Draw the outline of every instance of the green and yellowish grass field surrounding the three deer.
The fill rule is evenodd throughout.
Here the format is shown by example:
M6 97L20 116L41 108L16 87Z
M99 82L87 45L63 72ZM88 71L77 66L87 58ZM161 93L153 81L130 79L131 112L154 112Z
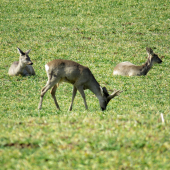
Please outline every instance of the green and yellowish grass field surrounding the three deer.
M0 169L170 169L170 2L168 0L1 0ZM147 76L113 76L122 61L141 65L146 47L162 57ZM36 76L10 77L19 54L32 49ZM72 85L50 91L44 65L57 58L88 66L111 93L102 112L92 92L89 110ZM165 122L161 120L161 113Z

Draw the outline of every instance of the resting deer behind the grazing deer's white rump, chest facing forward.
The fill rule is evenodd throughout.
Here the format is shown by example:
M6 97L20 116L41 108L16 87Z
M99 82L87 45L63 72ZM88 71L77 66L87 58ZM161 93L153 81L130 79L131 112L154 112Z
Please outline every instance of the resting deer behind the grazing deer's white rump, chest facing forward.
M11 67L9 68L8 74L10 76L18 76L19 74L21 74L22 76L35 75L35 71L31 66L33 65L33 63L30 57L28 56L30 50L24 53L21 49L17 49L20 53L19 61L14 61L12 63Z

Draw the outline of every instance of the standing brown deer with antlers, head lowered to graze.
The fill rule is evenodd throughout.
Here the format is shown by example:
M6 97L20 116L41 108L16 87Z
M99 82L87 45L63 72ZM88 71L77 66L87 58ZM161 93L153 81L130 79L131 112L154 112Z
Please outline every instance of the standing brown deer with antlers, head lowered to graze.
M112 98L118 96L122 92L120 90L116 90L111 95L109 95L107 89L105 87L102 88L99 85L88 67L82 66L74 61L56 59L47 63L45 65L45 69L47 72L48 81L44 88L41 90L40 103L38 106L39 109L42 107L42 101L45 93L51 87L53 87L51 90L52 98L54 99L57 109L60 109L55 97L55 92L61 82L67 82L73 85L72 101L69 107L69 111L72 110L73 101L77 90L80 92L84 100L86 109L88 109L88 106L86 103L84 90L91 90L98 98L102 111L106 109L107 104Z

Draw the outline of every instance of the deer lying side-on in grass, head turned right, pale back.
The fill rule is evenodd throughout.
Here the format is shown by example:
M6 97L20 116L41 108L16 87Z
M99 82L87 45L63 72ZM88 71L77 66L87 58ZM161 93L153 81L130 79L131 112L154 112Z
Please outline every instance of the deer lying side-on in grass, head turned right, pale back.
M119 63L113 70L113 75L122 76L142 76L146 75L152 68L154 63L161 63L162 60L157 54L153 52L151 48L146 48L148 53L148 59L145 64L141 66L136 66L128 61Z

